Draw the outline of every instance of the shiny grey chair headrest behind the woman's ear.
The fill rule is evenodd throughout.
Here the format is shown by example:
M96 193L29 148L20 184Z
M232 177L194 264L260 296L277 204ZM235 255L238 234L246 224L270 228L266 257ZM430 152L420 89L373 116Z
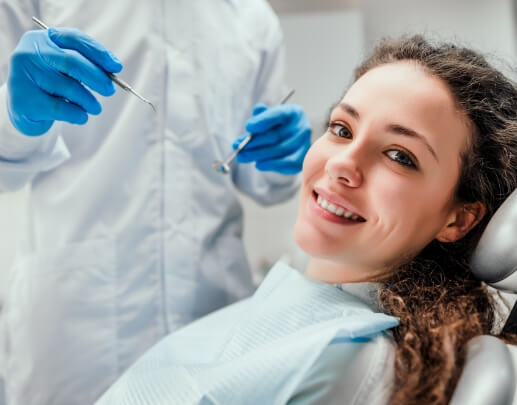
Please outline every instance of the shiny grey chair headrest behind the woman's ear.
M479 280L517 293L517 190L490 219L472 255L471 265Z

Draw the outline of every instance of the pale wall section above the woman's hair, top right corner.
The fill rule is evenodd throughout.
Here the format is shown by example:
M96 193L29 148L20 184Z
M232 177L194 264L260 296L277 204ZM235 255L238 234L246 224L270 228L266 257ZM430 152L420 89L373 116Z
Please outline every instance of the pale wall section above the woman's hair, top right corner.
M384 36L419 32L455 39L517 66L517 1L515 0L361 0L366 48ZM511 71L513 69L513 71Z

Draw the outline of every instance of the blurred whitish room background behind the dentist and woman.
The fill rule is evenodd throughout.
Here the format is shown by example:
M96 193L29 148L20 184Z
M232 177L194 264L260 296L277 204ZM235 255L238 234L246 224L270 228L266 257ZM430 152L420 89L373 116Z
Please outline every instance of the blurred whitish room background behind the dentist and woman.
M517 0L270 0L285 34L288 83L303 105L314 136L351 80L355 65L383 36L424 32L453 38L517 66ZM509 72L508 67L505 68ZM515 73L511 73L515 75ZM515 78L515 76L514 76ZM243 198L245 243L257 280L287 255L304 263L292 225L297 200L261 208ZM0 194L0 299L23 220L24 191Z

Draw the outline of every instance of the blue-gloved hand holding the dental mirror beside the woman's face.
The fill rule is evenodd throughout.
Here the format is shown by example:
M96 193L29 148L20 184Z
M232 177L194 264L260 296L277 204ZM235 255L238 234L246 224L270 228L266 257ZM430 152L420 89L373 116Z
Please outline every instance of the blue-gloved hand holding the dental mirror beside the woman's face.
M237 155L239 163L255 162L258 170L281 174L296 174L302 170L303 159L311 145L311 126L302 107L281 104L268 108L258 104L246 123L246 131L253 134L253 138ZM234 150L246 136L233 143Z

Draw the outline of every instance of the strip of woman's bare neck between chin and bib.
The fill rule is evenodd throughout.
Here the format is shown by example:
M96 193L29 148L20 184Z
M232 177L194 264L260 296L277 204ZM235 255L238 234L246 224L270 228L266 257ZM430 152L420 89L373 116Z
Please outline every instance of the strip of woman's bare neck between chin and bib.
M321 258L311 258L305 275L313 280L329 284L360 283L364 281L378 281L386 275L386 269L371 269L366 266L336 263Z

